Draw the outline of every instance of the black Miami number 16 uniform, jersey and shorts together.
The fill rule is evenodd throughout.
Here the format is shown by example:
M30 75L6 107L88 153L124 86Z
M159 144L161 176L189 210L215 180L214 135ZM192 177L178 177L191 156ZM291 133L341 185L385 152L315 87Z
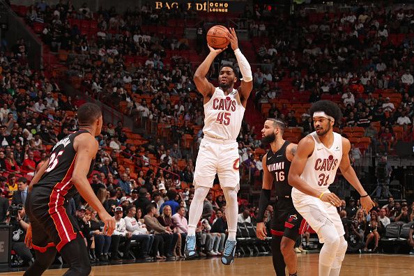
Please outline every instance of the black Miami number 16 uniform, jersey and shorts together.
M286 158L286 148L289 144L289 141L285 141L279 151L273 153L270 150L267 154L266 165L273 175L277 198L270 232L275 236L296 240L305 230L306 222L293 206L291 198L292 186L288 183L291 162Z

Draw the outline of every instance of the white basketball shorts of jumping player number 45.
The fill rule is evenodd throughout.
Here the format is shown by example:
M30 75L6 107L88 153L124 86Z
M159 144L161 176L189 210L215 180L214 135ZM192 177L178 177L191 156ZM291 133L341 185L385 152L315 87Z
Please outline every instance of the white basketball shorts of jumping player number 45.
M239 155L236 141L204 137L194 171L194 186L213 187L218 174L222 187L239 189Z

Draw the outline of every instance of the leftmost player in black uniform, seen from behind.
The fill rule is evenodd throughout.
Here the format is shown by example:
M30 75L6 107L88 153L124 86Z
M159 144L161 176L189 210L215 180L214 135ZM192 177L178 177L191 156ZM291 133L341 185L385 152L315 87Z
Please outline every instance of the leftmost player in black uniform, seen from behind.
M61 139L33 177L26 199L30 227L26 245L36 250L36 261L24 275L42 275L60 252L70 268L64 275L89 275L91 264L84 238L68 201L77 193L94 208L111 236L115 220L93 193L87 176L91 173L98 151L95 136L102 129L100 107L86 103L77 111L79 131Z

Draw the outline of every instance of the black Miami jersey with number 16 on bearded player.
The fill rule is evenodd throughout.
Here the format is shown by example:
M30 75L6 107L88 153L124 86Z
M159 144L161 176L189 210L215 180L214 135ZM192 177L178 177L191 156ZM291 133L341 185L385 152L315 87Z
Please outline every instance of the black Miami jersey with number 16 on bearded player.
M266 156L266 165L270 174L273 175L273 183L275 184L275 195L278 198L291 197L292 186L288 183L288 174L291 162L286 158L286 147L291 142L284 141L279 151L273 153L270 149Z

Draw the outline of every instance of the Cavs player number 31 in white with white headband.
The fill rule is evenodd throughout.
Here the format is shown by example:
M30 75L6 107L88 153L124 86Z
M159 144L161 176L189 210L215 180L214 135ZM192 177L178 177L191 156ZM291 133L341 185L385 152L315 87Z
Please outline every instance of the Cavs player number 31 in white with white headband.
M337 212L341 205L337 195L328 190L337 169L360 194L362 208L371 210L374 202L362 187L349 162L349 140L332 131L341 119L341 110L329 100L315 102L309 112L315 131L300 140L289 170L296 210L318 233L324 243L319 254L319 276L338 276L347 243L344 227Z

